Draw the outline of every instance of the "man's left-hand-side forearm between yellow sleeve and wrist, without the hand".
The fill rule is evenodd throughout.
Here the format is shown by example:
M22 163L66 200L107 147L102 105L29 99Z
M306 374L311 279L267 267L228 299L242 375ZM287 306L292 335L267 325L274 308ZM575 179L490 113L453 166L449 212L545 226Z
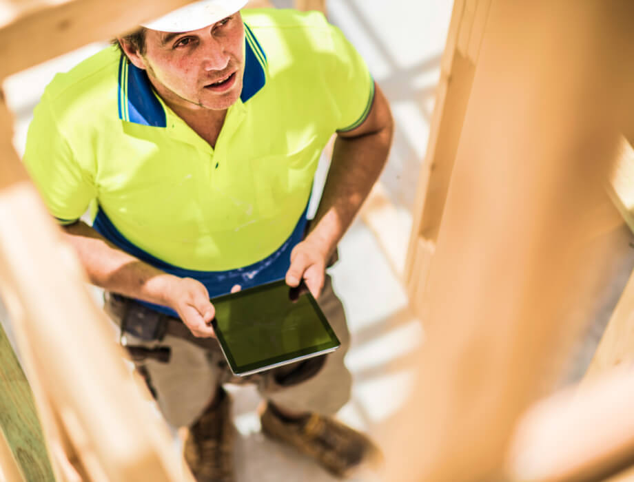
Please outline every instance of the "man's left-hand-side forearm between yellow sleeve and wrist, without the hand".
M174 276L117 249L81 221L63 229L92 284L148 302L167 304Z

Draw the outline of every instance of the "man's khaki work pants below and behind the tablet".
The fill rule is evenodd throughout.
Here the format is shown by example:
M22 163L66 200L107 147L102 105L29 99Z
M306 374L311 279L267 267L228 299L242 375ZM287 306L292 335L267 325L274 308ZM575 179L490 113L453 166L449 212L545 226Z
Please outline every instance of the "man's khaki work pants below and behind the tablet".
M174 428L191 426L202 415L218 386L225 383L253 383L265 399L278 406L334 415L350 398L351 375L343 363L350 335L343 306L332 289L329 275L318 304L339 338L340 348L324 357L247 377L232 374L216 339L194 337L179 319L168 319L162 339L147 342L128 333L125 338L127 346L170 348L169 362L137 357L134 363L154 391L166 421ZM125 300L105 293L104 309L120 327Z

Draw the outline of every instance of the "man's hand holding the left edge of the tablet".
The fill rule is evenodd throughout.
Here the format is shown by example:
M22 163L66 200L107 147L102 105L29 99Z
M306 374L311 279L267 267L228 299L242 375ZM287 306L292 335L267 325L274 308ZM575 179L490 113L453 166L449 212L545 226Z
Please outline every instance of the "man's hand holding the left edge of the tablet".
M195 337L215 337L211 322L216 309L209 301L209 292L205 285L190 277L173 279L168 306L178 313Z

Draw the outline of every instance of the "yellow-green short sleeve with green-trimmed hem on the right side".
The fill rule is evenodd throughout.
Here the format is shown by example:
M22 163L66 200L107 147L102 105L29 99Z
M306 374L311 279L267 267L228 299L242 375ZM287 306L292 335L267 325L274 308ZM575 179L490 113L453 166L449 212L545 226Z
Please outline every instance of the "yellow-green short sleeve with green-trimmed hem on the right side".
M331 95L340 109L338 132L359 127L367 118L374 101L374 79L365 60L345 38L331 26L333 71L328 78Z

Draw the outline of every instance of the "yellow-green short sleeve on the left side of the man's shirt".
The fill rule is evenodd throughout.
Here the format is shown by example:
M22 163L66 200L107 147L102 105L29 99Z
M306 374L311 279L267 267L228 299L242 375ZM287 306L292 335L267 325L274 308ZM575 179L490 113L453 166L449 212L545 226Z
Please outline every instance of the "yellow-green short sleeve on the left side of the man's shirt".
M79 165L43 96L29 125L23 163L52 216L72 224L96 197L94 176Z

